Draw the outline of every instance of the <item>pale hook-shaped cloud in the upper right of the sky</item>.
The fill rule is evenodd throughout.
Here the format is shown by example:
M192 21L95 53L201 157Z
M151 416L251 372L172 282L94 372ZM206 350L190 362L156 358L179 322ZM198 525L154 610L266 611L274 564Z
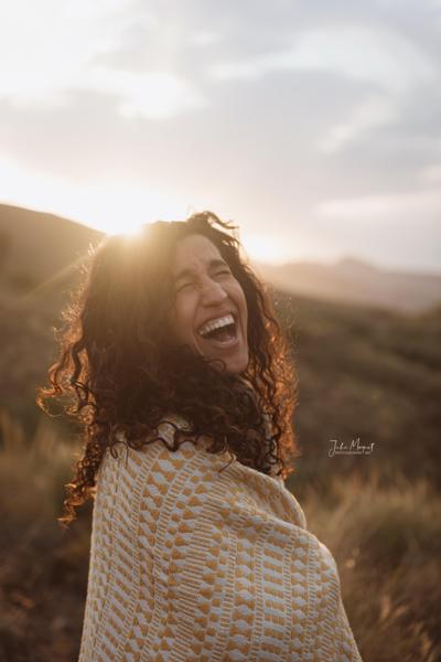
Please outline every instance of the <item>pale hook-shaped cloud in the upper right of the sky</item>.
M257 82L280 72L322 72L355 83L363 98L314 141L323 153L335 153L366 131L398 120L407 96L438 79L435 63L411 40L385 26L329 24L301 31L292 42L286 50L217 63L208 73L216 81Z

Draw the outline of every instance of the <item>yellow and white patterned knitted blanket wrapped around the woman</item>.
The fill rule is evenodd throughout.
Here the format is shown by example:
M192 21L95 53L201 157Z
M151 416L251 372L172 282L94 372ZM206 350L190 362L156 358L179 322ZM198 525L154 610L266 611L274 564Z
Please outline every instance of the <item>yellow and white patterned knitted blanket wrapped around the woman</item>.
M106 451L78 662L361 661L335 560L282 479L219 473L230 456L207 446Z

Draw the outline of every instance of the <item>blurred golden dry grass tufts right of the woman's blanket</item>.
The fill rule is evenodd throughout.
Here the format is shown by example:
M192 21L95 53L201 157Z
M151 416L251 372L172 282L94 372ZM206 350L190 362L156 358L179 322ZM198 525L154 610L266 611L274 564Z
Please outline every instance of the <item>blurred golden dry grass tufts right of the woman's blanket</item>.
M424 479L380 487L373 476L331 480L331 499L310 491L309 528L333 552L349 622L365 661L441 655L441 499Z

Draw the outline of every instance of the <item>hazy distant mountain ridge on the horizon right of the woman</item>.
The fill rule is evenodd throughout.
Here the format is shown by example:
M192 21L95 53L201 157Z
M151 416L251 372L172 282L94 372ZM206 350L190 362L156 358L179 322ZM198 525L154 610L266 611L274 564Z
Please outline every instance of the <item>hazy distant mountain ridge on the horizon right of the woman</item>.
M257 274L279 289L310 297L420 312L441 302L441 274L380 269L345 257L335 265L254 263Z

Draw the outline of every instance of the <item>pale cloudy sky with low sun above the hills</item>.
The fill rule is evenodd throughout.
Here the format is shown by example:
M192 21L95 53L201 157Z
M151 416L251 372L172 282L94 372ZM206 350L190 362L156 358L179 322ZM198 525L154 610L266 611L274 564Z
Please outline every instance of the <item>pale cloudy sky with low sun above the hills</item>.
M441 0L0 0L0 202L441 271Z

